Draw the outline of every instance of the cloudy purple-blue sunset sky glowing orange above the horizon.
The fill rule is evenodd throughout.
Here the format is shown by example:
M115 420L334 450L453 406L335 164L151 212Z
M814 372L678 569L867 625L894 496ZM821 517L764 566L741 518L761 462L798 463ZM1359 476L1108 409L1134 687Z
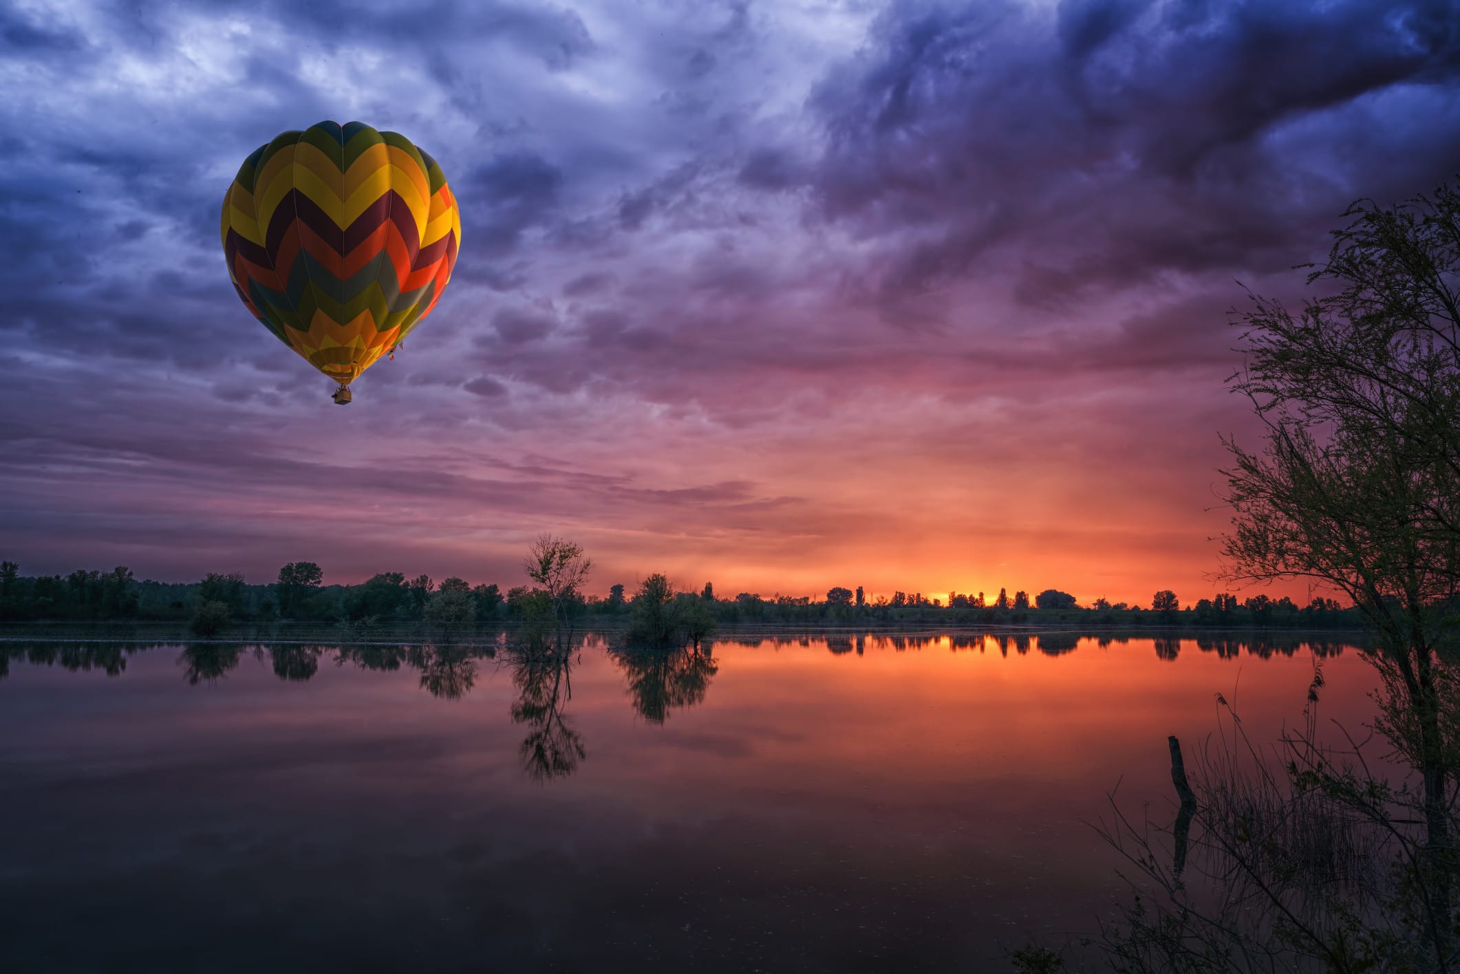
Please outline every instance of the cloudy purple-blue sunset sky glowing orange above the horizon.
M1418 0L12 0L0 89L23 574L507 587L548 532L591 591L1193 602L1257 438L1228 312L1460 172L1460 7ZM321 120L463 219L347 407L218 239Z

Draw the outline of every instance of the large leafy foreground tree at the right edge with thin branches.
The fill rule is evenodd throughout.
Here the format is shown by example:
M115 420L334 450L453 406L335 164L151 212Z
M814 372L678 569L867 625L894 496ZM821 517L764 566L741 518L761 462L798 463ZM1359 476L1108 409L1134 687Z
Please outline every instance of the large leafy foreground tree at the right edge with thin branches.
M1332 761L1291 765L1294 797L1283 808L1326 803L1333 818L1324 821L1365 822L1381 847L1396 843L1399 854L1388 869L1364 873L1393 873L1394 894L1345 907L1317 900L1315 883L1298 891L1301 908L1334 908L1333 923L1280 930L1292 943L1295 929L1317 929L1301 949L1326 970L1453 970L1460 191L1441 187L1396 207L1364 200L1345 218L1350 222L1334 232L1329 257L1308 275L1327 296L1289 310L1250 294L1248 310L1237 315L1245 365L1228 384L1264 431L1257 448L1223 438L1231 460L1222 494L1232 513L1222 537L1223 575L1241 584L1317 581L1356 606L1375 634L1365 659L1383 680L1374 726L1419 778L1410 810L1407 787L1390 790ZM1225 615L1232 603L1219 596L1213 610ZM1253 599L1248 606L1266 613L1269 603ZM1221 827L1212 816L1207 824ZM1413 843L1410 824L1421 829ZM1212 834L1226 838L1221 828ZM1248 851L1242 835L1231 841ZM1275 892L1282 886L1272 883L1282 876L1253 872L1251 859L1238 862L1245 864L1234 872L1247 876L1247 888L1292 919L1292 901L1283 902ZM1229 901L1263 913L1251 900ZM1378 911L1388 914L1388 929L1365 929ZM1178 901L1175 913L1158 916L1149 929L1174 924L1184 936L1202 921L1200 908ZM1240 936L1229 930L1222 936ZM1237 949L1245 954L1248 943L1238 940ZM1350 961L1355 949L1369 956Z

